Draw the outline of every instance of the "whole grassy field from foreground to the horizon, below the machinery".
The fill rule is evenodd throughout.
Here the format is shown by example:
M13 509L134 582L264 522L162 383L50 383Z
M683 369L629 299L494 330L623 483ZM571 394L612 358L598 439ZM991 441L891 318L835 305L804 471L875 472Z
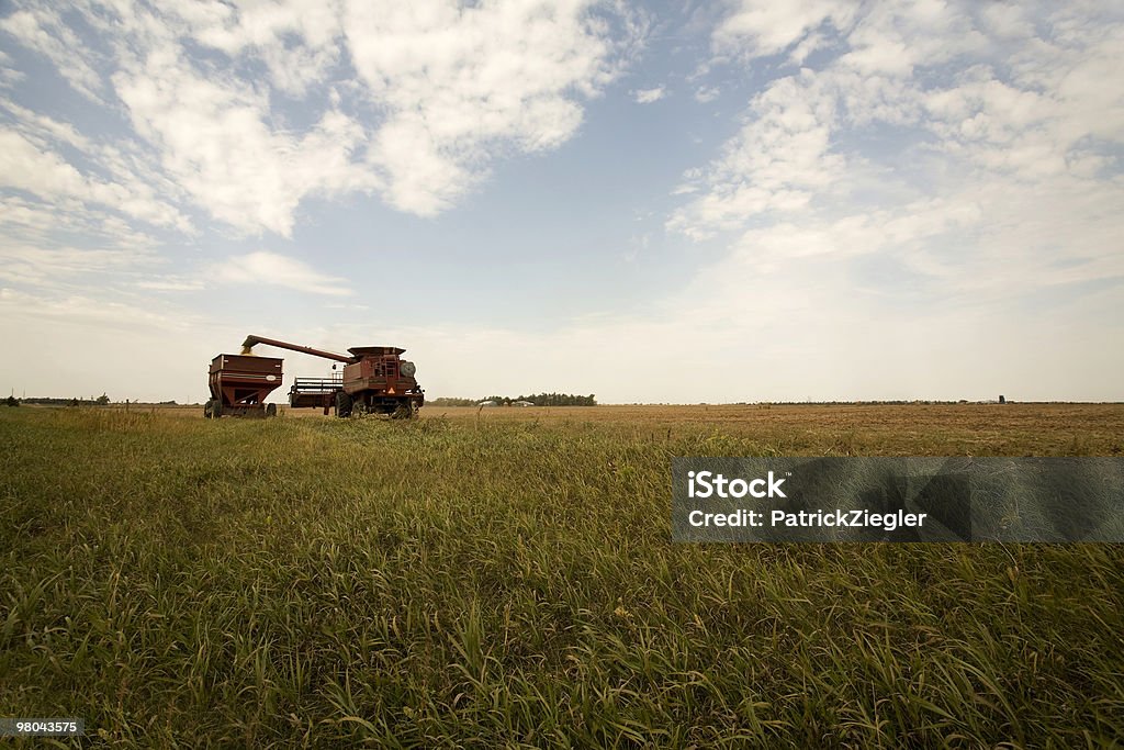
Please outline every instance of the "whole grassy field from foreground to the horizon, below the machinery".
M1118 455L1124 406L423 412L0 410L0 716L135 748L1124 737L1122 545L670 541L674 455Z

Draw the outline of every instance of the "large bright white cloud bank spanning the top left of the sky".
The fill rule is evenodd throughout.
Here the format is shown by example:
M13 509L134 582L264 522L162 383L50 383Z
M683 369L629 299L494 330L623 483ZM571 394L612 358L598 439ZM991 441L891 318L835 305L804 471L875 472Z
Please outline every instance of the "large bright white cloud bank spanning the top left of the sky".
M108 80L176 198L282 236L309 197L378 192L402 211L447 210L497 157L571 138L581 100L614 80L643 31L595 0L82 1L72 12L110 55L45 6L0 28L91 98ZM287 123L284 98L318 115Z

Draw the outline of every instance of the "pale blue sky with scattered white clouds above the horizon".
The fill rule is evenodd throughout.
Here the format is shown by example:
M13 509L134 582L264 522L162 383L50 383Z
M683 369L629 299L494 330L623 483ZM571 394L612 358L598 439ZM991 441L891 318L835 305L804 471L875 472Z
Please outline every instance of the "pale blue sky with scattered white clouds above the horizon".
M1124 400L1122 166L1120 2L0 0L0 388Z

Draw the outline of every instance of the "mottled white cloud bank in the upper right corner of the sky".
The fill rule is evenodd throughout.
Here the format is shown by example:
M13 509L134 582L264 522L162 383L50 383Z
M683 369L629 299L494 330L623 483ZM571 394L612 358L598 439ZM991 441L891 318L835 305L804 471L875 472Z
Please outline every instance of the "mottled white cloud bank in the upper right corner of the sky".
M972 187L1004 175L1088 177L1105 164L1095 142L1124 141L1124 93L1095 83L1124 63L1124 25L1089 21L1084 35L1039 40L1036 56L1023 45L1007 47L1014 75L1003 80L991 64L1001 39L998 47L989 45L964 8L847 7L844 12L837 3L807 2L774 10L746 2L719 25L716 46L755 40L754 55L781 52L822 24L844 31L833 60L782 75L753 99L746 125L723 156L701 175L685 178L697 197L671 217L670 228L705 237L762 215L776 220L799 211L807 223L865 211L855 196L878 190L868 183L871 174L885 183L878 192L882 209L895 182L906 209L917 195L951 192L955 180ZM785 22L769 27L777 13ZM1061 28L1072 22L1064 10L1050 20ZM1004 33L1014 28L1007 24ZM925 76L914 74L918 65ZM883 141L887 127L900 129L880 146L873 136L862 139L874 127L882 128ZM918 129L934 138L918 138ZM927 152L946 161L937 163ZM950 183L934 182L941 179Z

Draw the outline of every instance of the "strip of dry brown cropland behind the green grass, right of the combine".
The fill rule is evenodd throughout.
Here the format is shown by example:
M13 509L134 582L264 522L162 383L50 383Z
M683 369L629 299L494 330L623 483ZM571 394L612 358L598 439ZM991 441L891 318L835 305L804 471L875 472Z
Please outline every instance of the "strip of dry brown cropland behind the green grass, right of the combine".
M292 412L297 414L298 412ZM697 433L786 455L1120 455L1122 404L598 406L423 409L454 423L591 425L623 436ZM710 455L717 455L714 450ZM759 455L729 453L731 455Z

